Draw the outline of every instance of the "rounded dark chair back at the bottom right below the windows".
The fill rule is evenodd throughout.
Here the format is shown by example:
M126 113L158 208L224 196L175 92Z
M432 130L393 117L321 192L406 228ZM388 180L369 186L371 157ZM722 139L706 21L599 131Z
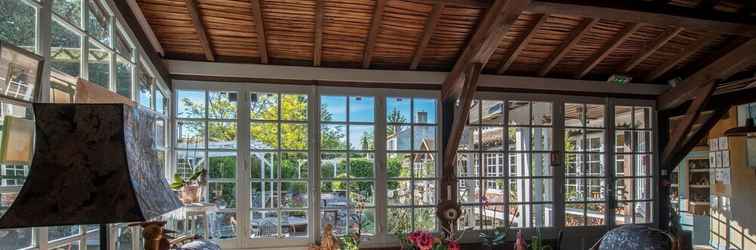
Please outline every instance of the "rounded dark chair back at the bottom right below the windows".
M604 234L590 250L678 250L677 241L667 232L642 225L626 225Z

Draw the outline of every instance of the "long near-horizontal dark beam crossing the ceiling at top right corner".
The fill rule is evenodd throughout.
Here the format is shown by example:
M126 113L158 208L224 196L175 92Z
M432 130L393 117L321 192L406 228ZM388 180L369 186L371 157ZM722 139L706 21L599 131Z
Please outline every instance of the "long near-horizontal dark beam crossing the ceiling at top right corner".
M534 0L529 12L590 17L656 26L683 27L696 32L756 37L756 21L725 12L621 0Z

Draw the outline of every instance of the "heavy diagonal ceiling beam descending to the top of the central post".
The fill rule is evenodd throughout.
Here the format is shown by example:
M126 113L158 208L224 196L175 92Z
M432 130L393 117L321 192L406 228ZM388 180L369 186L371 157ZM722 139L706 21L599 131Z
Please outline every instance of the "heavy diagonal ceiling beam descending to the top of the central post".
M496 0L478 23L472 38L454 64L442 85L443 99L457 99L462 93L464 71L471 64L485 64L491 59L504 35L517 17L527 9L530 0Z

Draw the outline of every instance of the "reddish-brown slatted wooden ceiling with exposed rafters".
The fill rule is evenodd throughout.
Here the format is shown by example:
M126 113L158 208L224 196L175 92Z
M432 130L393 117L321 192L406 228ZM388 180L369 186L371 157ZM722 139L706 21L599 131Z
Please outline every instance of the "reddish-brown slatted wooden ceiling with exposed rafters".
M490 5L477 0L136 2L165 59L426 71L452 69ZM604 9L644 14L596 11ZM534 0L500 41L484 73L596 80L624 73L635 82L661 83L690 75L756 37L755 9L752 0ZM683 19L665 19L669 16Z

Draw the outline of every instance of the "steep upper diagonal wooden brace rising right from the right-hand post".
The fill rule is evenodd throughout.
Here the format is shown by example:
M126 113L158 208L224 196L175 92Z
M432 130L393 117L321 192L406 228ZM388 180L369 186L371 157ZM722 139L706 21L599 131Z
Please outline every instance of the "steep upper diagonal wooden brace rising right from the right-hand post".
M678 162L672 161L673 158L679 158L680 154L687 153L681 152L681 147L686 144L688 134L690 133L691 128L693 128L693 124L698 121L698 118L704 111L704 107L708 104L711 94L714 93L714 90L716 89L716 85L716 82L711 81L696 88L693 103L688 107L688 111L680 121L680 124L675 126L672 130L669 141L667 142L667 145L664 146L661 162L666 165L666 169L672 169L674 166L677 166Z

